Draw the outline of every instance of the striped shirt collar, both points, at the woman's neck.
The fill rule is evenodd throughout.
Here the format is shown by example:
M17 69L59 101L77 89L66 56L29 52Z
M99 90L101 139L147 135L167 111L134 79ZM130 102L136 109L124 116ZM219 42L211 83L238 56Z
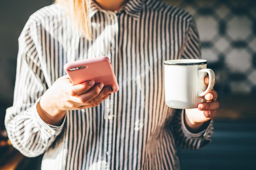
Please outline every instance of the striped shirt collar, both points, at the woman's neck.
M119 9L119 11L124 10L128 15L132 16L132 18L137 19L140 16L140 12L145 4L145 1L146 0L127 0L127 2ZM90 0L89 17L93 17L93 15L98 11L103 11L103 9L101 9L101 7L99 7L99 5L94 2L94 0Z

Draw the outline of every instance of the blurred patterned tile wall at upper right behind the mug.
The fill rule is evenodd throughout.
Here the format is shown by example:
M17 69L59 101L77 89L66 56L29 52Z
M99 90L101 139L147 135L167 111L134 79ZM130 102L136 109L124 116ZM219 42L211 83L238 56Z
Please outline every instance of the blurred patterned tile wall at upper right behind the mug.
M196 20L222 94L256 94L256 0L163 0Z

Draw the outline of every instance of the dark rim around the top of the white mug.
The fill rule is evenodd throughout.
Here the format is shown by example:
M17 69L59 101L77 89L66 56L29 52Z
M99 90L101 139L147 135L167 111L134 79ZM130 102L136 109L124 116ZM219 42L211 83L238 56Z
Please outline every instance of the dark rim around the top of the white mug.
M204 59L176 59L164 61L164 65L203 65L207 64Z

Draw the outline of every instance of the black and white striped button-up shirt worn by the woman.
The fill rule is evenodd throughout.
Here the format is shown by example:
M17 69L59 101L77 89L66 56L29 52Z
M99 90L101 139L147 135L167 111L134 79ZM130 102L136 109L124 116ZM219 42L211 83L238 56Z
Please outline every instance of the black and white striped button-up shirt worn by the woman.
M178 170L176 146L211 141L184 125L184 110L164 101L163 62L200 57L193 17L156 0L129 0L116 12L90 2L93 40L84 38L60 4L40 9L19 37L13 106L5 125L27 157L44 154L43 170ZM67 111L63 124L45 123L36 104L70 61L108 56L119 91L99 106Z

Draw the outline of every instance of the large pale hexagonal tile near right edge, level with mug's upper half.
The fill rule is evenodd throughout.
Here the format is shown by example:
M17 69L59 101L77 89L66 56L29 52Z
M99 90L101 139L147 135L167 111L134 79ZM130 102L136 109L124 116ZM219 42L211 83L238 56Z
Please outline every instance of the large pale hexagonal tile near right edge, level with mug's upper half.
M252 56L247 50L234 49L227 54L226 64L231 72L245 72L252 67Z

